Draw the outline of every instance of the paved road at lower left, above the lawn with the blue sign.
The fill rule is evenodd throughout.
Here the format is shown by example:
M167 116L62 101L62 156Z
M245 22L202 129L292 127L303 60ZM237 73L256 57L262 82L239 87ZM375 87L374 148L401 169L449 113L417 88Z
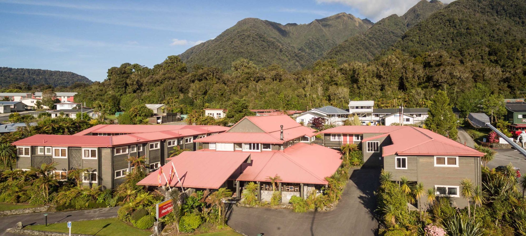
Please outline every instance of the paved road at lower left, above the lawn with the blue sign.
M93 220L93 219L106 219L117 217L117 210L119 207L113 208L98 208L92 210L80 210L80 211L61 211L61 212L48 212L47 223L58 223L67 221L79 221L79 220ZM17 216L6 216L0 217L0 236L11 236L18 234L11 234L5 232L6 229L14 228L17 222L22 222L24 226L28 224L45 224L44 212L33 213L33 214L21 214Z

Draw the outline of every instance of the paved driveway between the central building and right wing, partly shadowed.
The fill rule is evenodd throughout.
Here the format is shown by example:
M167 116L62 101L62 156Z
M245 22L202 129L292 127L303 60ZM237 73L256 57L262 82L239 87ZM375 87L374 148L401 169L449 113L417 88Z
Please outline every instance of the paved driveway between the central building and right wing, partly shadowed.
M373 191L380 169L355 169L336 209L295 213L291 210L232 207L228 225L252 236L265 235L376 235L378 222Z

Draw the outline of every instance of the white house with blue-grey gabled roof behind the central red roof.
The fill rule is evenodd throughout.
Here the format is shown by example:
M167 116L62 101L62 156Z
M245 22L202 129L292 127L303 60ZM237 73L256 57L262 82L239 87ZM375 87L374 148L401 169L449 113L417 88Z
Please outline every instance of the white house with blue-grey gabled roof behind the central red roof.
M322 108L314 108L301 113L296 117L296 122L301 122L307 126L312 118L321 117L326 120L326 124L342 125L343 121L349 119L349 115L349 112L334 106L323 106Z

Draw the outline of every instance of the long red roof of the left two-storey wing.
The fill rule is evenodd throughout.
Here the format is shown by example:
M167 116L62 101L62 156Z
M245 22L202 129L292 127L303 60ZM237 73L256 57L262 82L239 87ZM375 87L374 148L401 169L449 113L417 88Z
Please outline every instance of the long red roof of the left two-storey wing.
M74 135L33 135L13 142L13 145L111 147L218 133L227 129L227 127L214 125L96 125ZM131 134L115 136L86 135L89 133ZM43 139L45 143L43 143Z

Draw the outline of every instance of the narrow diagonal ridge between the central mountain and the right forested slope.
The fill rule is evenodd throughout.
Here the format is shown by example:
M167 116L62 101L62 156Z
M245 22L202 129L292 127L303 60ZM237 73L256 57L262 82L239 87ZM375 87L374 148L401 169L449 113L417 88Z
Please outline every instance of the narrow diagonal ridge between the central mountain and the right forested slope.
M421 20L444 7L438 0L422 0L403 16L393 14L379 20L369 30L350 37L329 50L323 59L336 59L337 63L368 62L388 50L404 33Z

